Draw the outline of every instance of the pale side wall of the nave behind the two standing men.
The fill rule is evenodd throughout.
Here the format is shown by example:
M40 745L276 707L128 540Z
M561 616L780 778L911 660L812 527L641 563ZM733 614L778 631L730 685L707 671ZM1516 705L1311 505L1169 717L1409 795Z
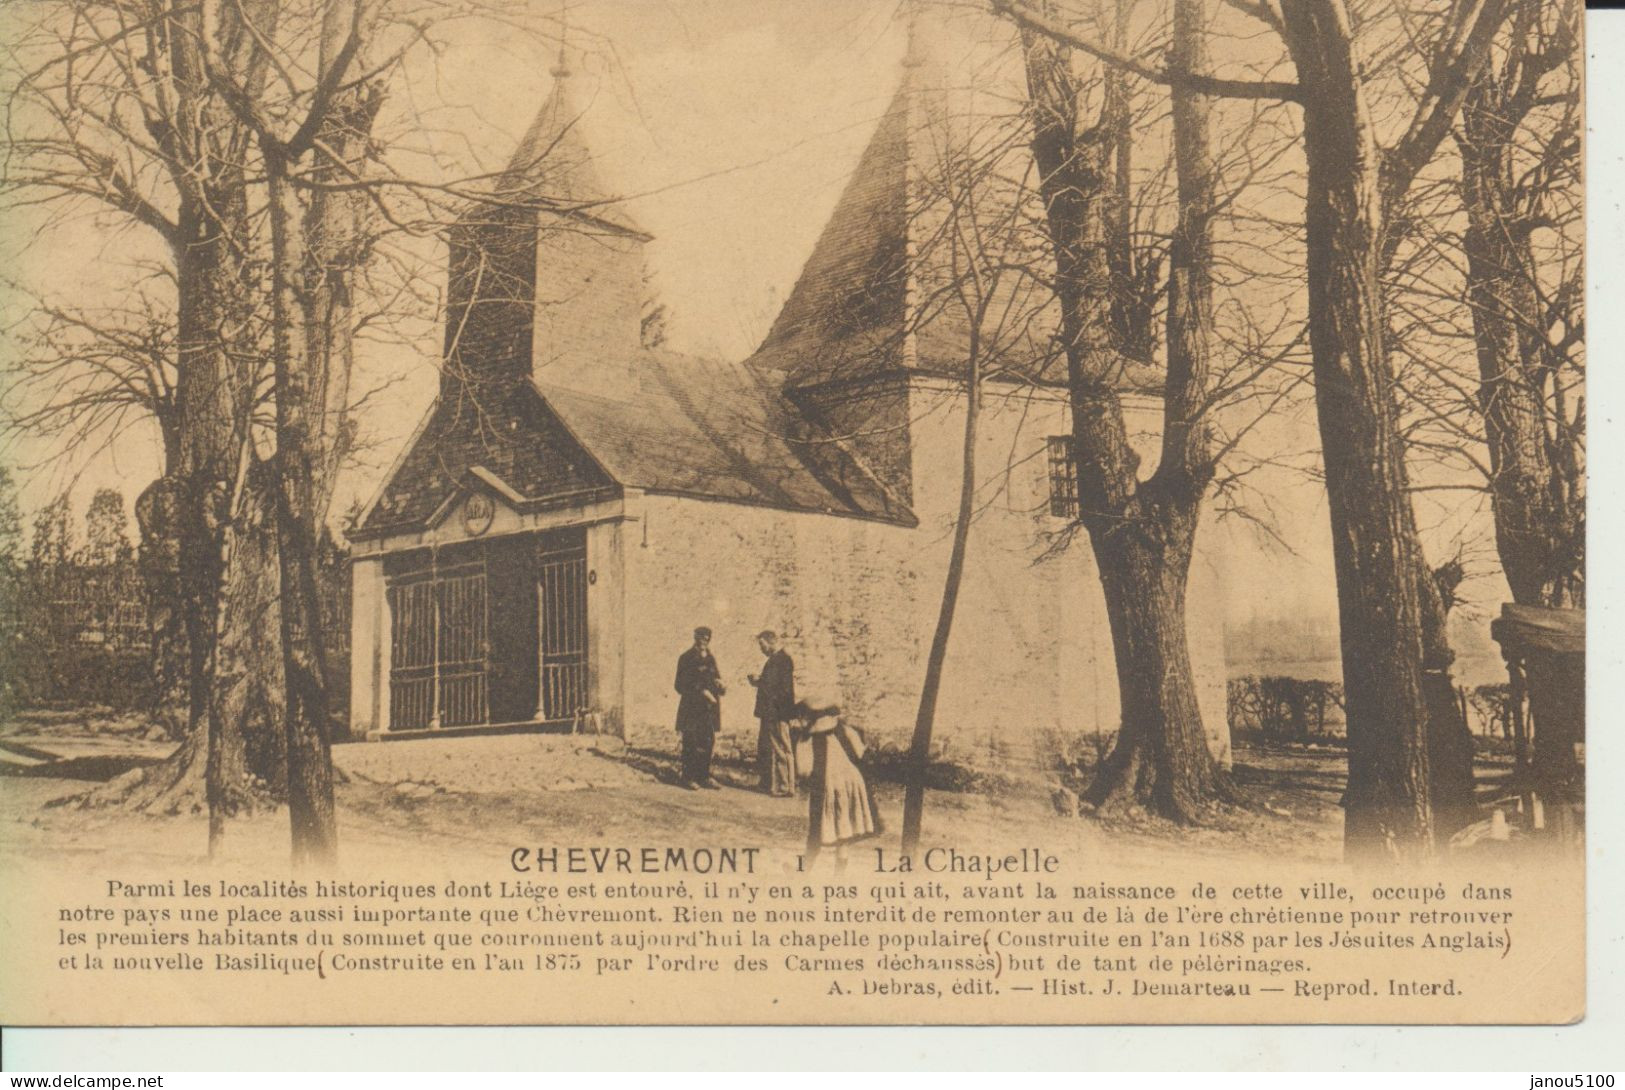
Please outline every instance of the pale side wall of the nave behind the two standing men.
M624 531L627 736L670 739L678 655L704 624L728 686L723 731L746 750L762 629L780 634L803 690L834 690L855 723L907 737L923 661L913 546L889 523L642 497Z

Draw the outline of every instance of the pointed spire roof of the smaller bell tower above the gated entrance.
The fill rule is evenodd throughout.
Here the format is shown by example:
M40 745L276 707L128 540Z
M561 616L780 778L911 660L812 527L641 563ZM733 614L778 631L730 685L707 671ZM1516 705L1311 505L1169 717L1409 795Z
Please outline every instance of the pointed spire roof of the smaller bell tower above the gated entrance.
M618 231L644 236L598 172L582 127L585 107L575 102L575 80L562 45L551 75L552 91L497 177L496 192L559 205Z

